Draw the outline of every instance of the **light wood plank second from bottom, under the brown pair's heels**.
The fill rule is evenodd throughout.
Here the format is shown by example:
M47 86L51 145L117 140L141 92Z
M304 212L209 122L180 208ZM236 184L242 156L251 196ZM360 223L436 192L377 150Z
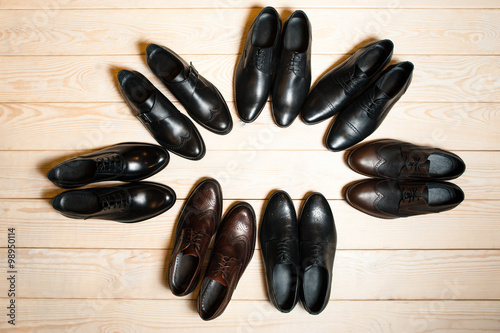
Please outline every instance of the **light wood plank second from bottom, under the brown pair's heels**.
M18 249L16 297L177 299L165 282L170 255L165 250ZM0 259L7 271L6 251ZM257 250L233 298L266 300L265 283ZM9 284L0 280L2 290ZM494 300L500 298L499 284L499 250L338 250L331 299Z

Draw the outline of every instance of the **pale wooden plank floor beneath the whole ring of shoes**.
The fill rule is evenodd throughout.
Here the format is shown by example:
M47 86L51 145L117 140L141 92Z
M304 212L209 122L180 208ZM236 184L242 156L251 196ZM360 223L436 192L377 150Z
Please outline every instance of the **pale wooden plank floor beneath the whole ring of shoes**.
M234 67L267 4L0 1L0 330L14 328L6 316L6 247L8 228L15 228L15 328L23 332L500 332L500 2L269 3L283 19L295 9L309 16L313 81L375 39L394 42L394 61L415 64L407 94L370 139L459 154L467 171L455 182L466 200L450 212L399 220L372 218L342 199L343 187L362 176L344 154L324 148L328 122L297 120L280 129L269 106L253 124L238 121ZM62 192L46 178L52 166L119 142L154 142L115 79L120 69L139 70L166 93L145 63L150 42L192 61L219 87L234 129L218 136L198 127L206 157L171 155L151 178L177 193L167 213L131 225L64 218L50 206ZM203 177L222 184L225 207L246 200L259 218L276 189L297 207L311 191L325 194L338 251L331 302L321 315L300 305L290 314L274 309L258 246L220 318L198 317L197 292L172 295L164 268L174 225Z

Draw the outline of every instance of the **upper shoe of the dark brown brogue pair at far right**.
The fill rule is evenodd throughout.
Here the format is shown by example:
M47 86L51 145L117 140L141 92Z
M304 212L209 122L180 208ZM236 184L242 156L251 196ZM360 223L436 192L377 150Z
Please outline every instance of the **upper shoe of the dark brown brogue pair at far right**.
M392 139L354 149L347 164L363 175L400 180L449 180L465 171L464 161L449 151Z

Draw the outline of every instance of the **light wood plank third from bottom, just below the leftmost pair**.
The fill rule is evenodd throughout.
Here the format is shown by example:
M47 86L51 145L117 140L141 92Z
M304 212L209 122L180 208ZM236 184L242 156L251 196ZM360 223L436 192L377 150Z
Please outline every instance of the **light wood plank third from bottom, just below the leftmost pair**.
M257 225L266 201L249 200ZM224 211L234 203L224 201ZM466 200L445 214L416 216L398 221L378 220L330 200L338 233L338 249L500 249L500 201ZM297 214L301 200L294 201ZM174 229L184 200L168 213L138 224L68 219L48 200L4 199L0 202L0 230L16 228L17 247L164 249L173 244ZM474 222L471 222L474 221ZM7 244L7 233L0 233ZM257 243L257 248L259 244Z

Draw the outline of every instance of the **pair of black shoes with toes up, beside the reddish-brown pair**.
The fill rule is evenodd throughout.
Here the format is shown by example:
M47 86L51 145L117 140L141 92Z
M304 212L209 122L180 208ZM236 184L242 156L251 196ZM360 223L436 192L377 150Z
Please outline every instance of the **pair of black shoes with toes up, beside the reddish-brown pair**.
M264 209L259 231L267 291L273 305L290 312L299 298L310 314L330 299L337 233L330 205L310 194L297 218L290 196L276 191Z

